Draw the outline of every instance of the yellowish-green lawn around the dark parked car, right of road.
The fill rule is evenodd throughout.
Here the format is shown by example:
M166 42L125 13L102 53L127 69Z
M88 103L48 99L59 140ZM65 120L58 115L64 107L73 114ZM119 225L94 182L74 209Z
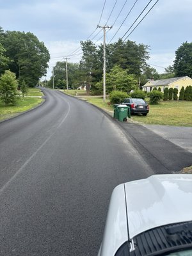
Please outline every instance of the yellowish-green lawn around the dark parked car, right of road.
M99 108L113 111L113 106L103 102L102 97L82 97L82 99ZM162 101L158 105L150 105L147 116L131 116L131 120L142 124L192 126L192 102L190 101ZM128 121L129 122L129 121Z

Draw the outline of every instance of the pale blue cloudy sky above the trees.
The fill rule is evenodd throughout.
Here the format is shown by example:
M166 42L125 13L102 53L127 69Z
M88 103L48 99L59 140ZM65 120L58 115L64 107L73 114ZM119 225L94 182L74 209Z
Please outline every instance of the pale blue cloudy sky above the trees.
M191 13L191 0L0 0L0 26L4 31L31 32L49 50L46 79L51 77L56 61L64 61L66 56L68 62L81 60L81 41L102 44L103 31L97 25L113 26L106 29L109 44L119 38L125 40L141 19L126 40L149 45L147 63L163 73L173 65L180 45L192 42Z

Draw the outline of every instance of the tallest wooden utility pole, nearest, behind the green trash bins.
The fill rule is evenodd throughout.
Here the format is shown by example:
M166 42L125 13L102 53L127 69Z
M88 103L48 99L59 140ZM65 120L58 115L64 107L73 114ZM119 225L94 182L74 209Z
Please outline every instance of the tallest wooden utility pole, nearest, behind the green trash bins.
M113 26L97 26L103 29L103 101L106 102L106 28L111 29Z

